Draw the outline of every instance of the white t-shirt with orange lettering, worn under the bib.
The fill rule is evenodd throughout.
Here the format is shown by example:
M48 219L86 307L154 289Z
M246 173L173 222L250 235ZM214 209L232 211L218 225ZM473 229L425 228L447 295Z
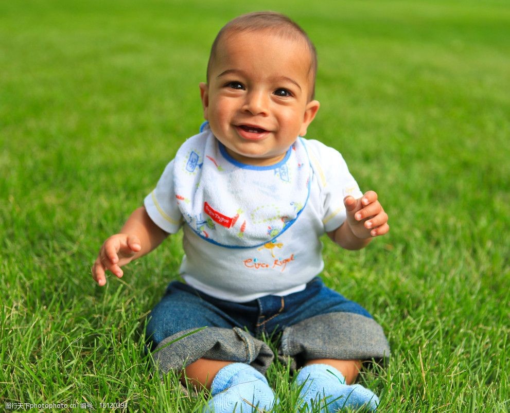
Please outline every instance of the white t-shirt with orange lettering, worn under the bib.
M221 144L210 132L205 131L189 140L198 142L207 139L213 139L217 146L216 162L232 164L230 166L234 168L242 167L220 150ZM185 256L180 274L189 285L220 299L245 302L265 295L285 296L301 291L307 282L321 273L324 262L319 238L345 221L344 197L353 195L358 198L362 193L339 152L317 140L300 138L300 141L306 147L310 165L306 204L291 225L276 238L255 247L218 245L197 231L196 221L184 217L179 208L178 202L182 201L182 197L175 192L175 159L170 161L156 188L145 198L145 207L149 217L164 231L175 234L183 227ZM192 159L198 159L193 156ZM275 174L277 168L285 167L288 159L292 158L286 156L273 166ZM249 169L253 179L260 175L256 167ZM177 173L180 173L179 168ZM249 182L246 185L251 187ZM218 188L222 187L218 185ZM220 196L221 190L218 191ZM260 195L254 189L254 200L257 196ZM208 214L213 216L210 211ZM212 224L218 225L217 222Z

